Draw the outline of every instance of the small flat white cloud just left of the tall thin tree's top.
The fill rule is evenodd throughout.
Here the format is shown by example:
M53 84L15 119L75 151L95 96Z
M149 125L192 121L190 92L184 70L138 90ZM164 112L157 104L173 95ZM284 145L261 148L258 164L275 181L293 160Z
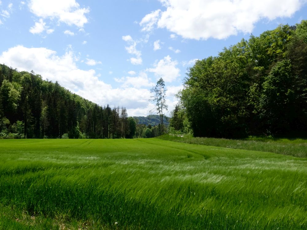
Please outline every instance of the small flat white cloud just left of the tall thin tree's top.
M123 88L133 86L134 88L151 87L153 83L150 82L147 74L145 72L140 72L137 77L122 77L115 78L116 82L122 83ZM149 99L149 98L148 98Z

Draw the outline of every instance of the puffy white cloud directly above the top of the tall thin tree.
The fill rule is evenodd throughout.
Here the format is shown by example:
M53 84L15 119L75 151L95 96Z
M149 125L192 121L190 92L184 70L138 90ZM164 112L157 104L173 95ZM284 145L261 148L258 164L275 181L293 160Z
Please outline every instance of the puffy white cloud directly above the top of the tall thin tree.
M157 78L163 78L165 82L172 82L180 76L180 69L176 66L177 61L172 61L171 57L168 55L159 61L156 61L153 66L154 68L149 68L147 71L154 73Z

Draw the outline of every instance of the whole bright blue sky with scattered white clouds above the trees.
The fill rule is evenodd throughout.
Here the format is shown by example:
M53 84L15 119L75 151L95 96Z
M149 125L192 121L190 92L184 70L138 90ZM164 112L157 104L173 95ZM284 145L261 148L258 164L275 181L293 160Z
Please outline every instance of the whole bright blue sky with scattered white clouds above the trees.
M146 116L160 77L170 112L196 59L305 19L306 0L0 0L0 63Z

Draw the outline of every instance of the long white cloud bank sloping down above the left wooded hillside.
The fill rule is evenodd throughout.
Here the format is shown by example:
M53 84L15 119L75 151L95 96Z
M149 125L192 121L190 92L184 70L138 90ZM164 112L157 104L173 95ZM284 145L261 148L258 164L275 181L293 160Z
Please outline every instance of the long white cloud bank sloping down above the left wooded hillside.
M4 63L18 71L31 71L43 79L58 81L61 86L100 105L125 106L129 116L146 116L149 113L150 90L133 87L112 88L99 79L95 70L82 70L76 65L76 57L68 49L58 56L47 48L26 48L16 46L0 55Z

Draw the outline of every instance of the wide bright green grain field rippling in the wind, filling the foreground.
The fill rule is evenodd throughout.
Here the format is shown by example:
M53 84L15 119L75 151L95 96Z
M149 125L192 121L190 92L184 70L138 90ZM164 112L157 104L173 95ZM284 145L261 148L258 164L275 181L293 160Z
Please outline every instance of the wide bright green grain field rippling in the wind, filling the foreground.
M307 229L306 193L307 158L160 139L0 140L0 229Z

